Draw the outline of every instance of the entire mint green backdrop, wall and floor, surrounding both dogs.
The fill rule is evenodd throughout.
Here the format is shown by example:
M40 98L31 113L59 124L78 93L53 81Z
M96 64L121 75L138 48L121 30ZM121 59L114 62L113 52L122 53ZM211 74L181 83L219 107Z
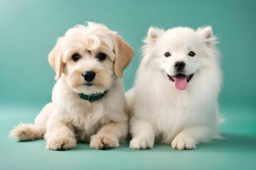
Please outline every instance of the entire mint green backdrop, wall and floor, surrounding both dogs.
M97 151L79 144L53 152L44 149L44 140L16 142L8 137L14 125L33 122L50 101L55 81L48 52L65 30L85 21L117 30L134 47L124 73L126 89L132 86L149 26L213 26L223 54L220 112L227 120L220 131L226 140L191 151L166 145L134 151L128 144ZM255 30L256 1L250 0L0 0L0 169L255 169Z

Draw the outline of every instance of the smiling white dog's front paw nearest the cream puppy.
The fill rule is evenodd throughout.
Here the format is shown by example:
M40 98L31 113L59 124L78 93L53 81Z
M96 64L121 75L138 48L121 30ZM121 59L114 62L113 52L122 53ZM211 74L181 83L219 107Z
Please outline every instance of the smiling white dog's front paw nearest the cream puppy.
M135 137L131 140L129 147L132 149L151 149L153 148L154 140L151 141L147 138Z

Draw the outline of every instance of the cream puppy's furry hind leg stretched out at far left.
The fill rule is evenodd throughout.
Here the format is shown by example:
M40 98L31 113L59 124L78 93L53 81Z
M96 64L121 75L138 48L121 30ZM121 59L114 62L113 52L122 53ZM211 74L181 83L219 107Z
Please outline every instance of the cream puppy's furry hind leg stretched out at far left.
M20 123L11 130L10 136L21 141L43 139L43 135L46 133L46 121L52 111L53 103L46 104L36 116L34 125Z

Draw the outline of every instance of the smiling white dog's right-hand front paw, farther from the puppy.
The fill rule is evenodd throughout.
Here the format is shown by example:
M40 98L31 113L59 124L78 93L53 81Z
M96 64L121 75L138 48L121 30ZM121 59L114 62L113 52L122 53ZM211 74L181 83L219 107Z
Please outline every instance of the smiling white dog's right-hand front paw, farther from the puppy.
M174 140L171 142L171 147L173 149L186 150L186 149L196 149L195 142L193 138L189 135L178 134Z

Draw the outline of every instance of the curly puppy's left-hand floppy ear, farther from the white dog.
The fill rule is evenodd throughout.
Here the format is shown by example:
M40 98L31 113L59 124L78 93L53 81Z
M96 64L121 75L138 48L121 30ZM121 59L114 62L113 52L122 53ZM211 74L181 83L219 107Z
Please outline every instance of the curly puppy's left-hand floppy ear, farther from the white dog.
M50 66L53 67L53 69L56 72L55 79L59 79L61 73L64 69L64 63L62 60L62 47L63 47L63 38L58 38L57 43L53 50L48 55L48 62L50 63Z

